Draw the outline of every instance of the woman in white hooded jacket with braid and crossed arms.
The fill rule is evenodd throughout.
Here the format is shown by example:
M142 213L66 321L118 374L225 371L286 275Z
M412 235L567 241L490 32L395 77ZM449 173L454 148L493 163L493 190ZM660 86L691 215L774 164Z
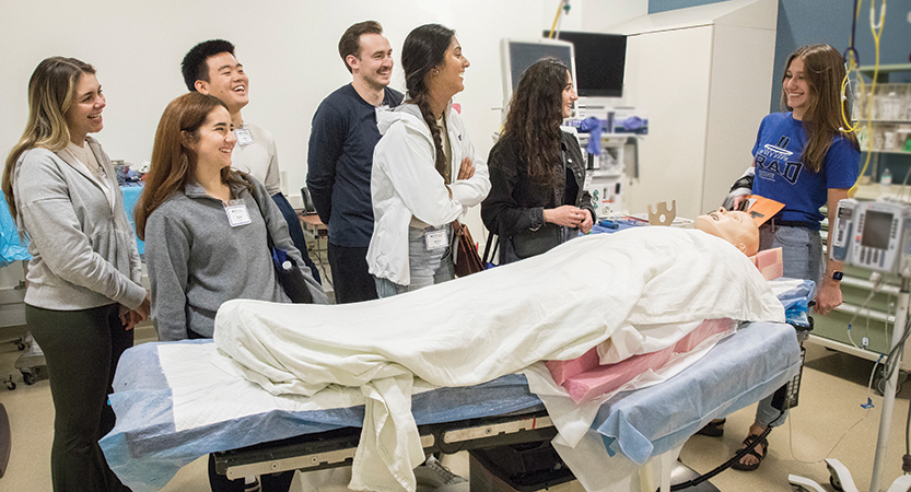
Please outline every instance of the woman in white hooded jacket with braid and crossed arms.
M367 265L381 297L451 280L451 223L490 191L487 165L452 109L469 66L455 32L440 24L411 31L401 66L408 94L377 115L383 138L371 176Z

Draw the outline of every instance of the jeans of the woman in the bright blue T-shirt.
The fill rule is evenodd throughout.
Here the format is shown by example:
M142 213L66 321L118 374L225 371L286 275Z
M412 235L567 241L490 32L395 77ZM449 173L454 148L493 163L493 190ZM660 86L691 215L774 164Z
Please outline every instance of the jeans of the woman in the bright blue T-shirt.
M806 227L774 226L763 224L759 229L759 250L781 248L784 277L813 280L822 278L822 239L819 231ZM781 413L772 407L772 396L763 398L756 407L756 424L767 427ZM776 427L787 419L787 412L771 426Z

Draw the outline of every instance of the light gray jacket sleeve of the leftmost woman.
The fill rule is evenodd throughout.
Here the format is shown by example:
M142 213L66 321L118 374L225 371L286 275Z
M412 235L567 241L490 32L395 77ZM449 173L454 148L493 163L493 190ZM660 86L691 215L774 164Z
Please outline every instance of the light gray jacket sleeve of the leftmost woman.
M142 304L145 290L92 249L51 152L30 151L15 183L21 223L27 224L30 241L54 274L130 309Z

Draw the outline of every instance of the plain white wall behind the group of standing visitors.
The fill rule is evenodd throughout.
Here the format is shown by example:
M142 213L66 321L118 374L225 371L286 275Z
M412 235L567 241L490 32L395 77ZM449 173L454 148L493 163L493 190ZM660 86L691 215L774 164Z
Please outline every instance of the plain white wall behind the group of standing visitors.
M25 127L32 71L42 59L60 55L82 59L98 70L108 105L105 129L97 138L110 157L133 164L148 161L162 110L186 92L179 72L184 54L198 42L222 37L237 46L237 58L250 77L250 104L244 117L275 134L289 191L296 195L306 177L313 114L327 94L351 81L338 56L338 38L349 25L375 19L383 24L397 62L401 43L413 27L439 22L456 30L471 61L466 90L456 101L475 145L486 157L492 145L490 136L500 124L499 112L491 109L502 101L499 42L540 36L544 3L4 1L0 155L5 161ZM393 86L404 85L397 63Z

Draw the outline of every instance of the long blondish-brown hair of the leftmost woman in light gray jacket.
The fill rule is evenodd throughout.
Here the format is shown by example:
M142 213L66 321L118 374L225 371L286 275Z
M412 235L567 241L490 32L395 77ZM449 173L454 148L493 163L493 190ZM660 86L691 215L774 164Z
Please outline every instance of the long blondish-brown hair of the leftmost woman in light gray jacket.
M31 149L57 152L67 147L70 128L65 115L72 106L75 86L83 73L93 74L95 69L75 58L50 57L42 60L28 79L28 122L3 169L3 194L13 220L17 213L13 191L16 161Z

